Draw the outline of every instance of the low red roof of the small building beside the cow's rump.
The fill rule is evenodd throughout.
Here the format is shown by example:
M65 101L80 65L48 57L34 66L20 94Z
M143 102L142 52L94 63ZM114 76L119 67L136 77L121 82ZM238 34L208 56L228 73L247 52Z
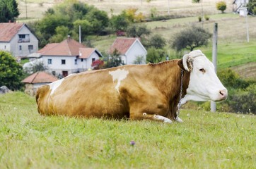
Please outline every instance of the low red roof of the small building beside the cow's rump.
M34 83L54 82L56 80L58 80L58 78L53 76L53 75L50 75L50 74L45 73L45 72L37 72L37 73L34 73L34 74L26 77L21 82L34 84Z

